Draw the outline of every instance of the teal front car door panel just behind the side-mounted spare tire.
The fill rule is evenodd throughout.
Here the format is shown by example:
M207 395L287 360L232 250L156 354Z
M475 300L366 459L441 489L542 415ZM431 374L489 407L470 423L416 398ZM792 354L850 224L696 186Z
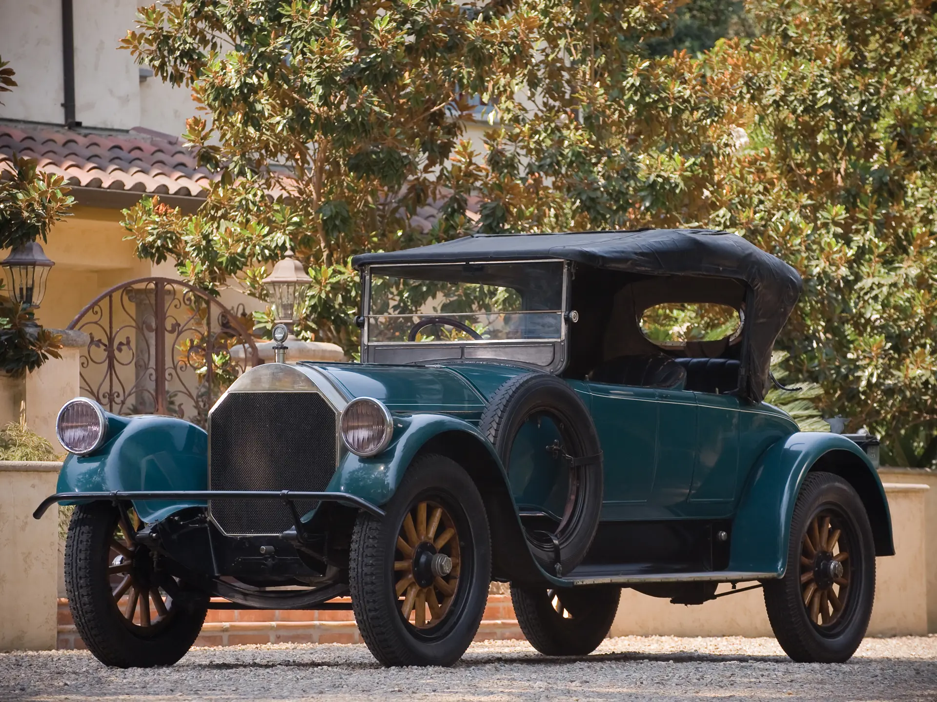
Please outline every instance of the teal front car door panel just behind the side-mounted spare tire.
M658 396L653 388L589 381L592 421L602 443L603 519L633 518L646 504L657 465Z

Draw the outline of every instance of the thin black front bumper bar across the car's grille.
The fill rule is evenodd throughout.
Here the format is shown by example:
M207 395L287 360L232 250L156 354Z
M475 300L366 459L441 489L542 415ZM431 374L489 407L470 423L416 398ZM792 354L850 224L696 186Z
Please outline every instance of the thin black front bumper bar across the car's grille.
M125 500L281 500L290 507L294 519L299 521L297 500L319 500L339 505L357 507L374 517L384 516L384 510L355 495L344 492L304 492L299 490L112 490L110 492L56 492L50 495L33 512L33 519L41 519L50 506L58 502L110 500L119 503ZM298 526L298 524L297 524Z

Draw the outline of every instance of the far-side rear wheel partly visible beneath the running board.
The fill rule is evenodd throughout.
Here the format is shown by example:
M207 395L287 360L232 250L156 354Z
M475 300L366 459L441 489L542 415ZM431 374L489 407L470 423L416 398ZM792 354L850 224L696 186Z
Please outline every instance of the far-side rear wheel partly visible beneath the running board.
M587 655L615 622L621 588L593 585L566 590L511 586L517 623L537 651L548 656Z

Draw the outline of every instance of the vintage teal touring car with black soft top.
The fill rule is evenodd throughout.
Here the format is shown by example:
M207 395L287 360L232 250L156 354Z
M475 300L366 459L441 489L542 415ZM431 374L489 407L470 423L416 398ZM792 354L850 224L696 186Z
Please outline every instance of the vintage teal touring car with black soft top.
M354 265L360 363L260 365L207 432L63 407L70 454L37 517L78 505L68 601L99 660L170 665L211 607L350 595L380 663L451 665L492 580L547 655L593 651L622 587L696 605L719 583L764 588L796 661L853 654L891 521L874 440L764 402L791 267L699 229L476 235ZM647 322L687 328L678 305L721 327Z

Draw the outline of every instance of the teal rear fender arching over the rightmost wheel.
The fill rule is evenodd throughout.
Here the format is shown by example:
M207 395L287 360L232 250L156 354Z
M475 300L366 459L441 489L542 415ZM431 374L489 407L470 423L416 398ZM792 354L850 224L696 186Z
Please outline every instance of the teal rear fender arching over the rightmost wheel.
M885 489L869 457L840 434L801 431L770 446L752 469L732 527L729 570L783 577L794 505L811 471L848 481L866 506L876 555L895 552Z

